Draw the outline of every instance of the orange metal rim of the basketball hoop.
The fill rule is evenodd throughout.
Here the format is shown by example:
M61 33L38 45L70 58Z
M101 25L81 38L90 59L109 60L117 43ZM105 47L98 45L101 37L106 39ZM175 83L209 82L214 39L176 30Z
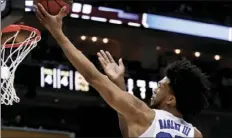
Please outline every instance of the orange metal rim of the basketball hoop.
M25 31L34 31L36 33L37 36L41 36L41 33L38 29L36 28L33 28L33 27L30 27L30 26L26 26L26 25L17 25L17 24L12 24L12 25L9 25L5 28L3 28L2 30L2 33L11 33L11 32L17 32L19 30L25 30ZM36 37L35 37L36 38ZM31 39L28 41L28 43L31 43L32 41L35 40L35 38ZM11 48L11 47L14 47L14 48L17 48L19 47L23 42L20 42L20 43L14 43L14 44L5 44L4 47L5 48Z

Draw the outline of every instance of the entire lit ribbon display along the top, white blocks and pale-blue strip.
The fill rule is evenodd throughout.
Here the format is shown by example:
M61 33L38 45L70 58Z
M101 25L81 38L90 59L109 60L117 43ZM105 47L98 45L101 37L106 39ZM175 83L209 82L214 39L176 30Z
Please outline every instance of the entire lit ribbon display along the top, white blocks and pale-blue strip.
M33 5L33 0L25 0L25 11L32 12ZM72 11L70 16L84 20L109 22L118 25L127 24L128 26L134 27L141 26L149 29L175 32L199 37L208 37L232 42L232 27L190 21L168 16L148 13L127 13L122 9L114 9L110 7L93 7L89 4L82 4L77 2L72 4Z

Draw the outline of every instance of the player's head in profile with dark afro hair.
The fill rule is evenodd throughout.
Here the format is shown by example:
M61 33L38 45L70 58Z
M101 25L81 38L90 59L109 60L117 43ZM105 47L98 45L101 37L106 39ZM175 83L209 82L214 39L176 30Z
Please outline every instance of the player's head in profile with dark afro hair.
M151 99L158 109L175 108L183 116L199 113L207 104L209 81L201 70L188 60L176 61L165 69Z

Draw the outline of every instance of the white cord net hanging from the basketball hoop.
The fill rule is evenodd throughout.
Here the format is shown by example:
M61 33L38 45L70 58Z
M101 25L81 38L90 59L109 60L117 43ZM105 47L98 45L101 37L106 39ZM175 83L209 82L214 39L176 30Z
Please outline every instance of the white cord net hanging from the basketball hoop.
M20 101L14 88L15 71L19 63L41 39L35 31L32 31L26 40L20 42L19 46L15 46L19 32L20 30L1 45L1 104L5 105L13 105L13 102Z

